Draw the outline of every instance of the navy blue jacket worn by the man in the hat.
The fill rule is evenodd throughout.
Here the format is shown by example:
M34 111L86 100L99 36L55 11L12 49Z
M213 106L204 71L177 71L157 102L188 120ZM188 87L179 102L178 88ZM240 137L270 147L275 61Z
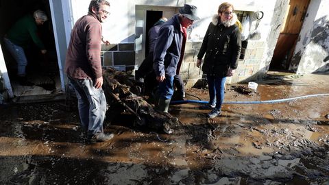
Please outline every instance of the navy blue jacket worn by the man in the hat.
M178 14L160 28L153 56L156 76L175 76L183 42L183 34L180 30Z

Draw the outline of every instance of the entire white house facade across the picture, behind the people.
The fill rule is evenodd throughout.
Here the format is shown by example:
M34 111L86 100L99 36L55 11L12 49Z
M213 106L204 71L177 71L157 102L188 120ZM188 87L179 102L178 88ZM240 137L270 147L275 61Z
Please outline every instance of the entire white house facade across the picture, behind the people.
M57 56L58 63L59 91L65 93L66 77L63 69L71 29L75 21L88 12L90 1L36 1L45 3L45 7L48 8L47 12L51 16L54 55ZM195 64L196 56L212 16L217 14L218 6L224 1L110 0L109 2L110 16L106 23L103 23L103 37L109 40L111 45L102 47L100 53L102 64L122 71L131 71L133 74L147 53L147 31L150 25L153 25L154 21L161 16L170 18L177 14L178 8L184 3L196 5L201 19L195 21L193 27L188 30L180 75L187 87L204 83L202 71ZM229 2L234 5L236 14L242 23L245 23L249 16L249 29L247 30L249 38L243 43L243 55L239 61L239 67L235 75L228 79L228 83L248 82L264 77L271 66L278 38L284 34L282 30L286 27L285 21L291 21L293 16L298 14L302 16L300 20L302 27L296 34L296 41L293 42L293 51L290 56L291 62L286 65L285 70L298 74L329 70L329 14L326 10L329 7L329 1L307 0L304 12L297 6L292 7L294 6L292 0L231 0ZM4 16L6 16L5 10L11 6L14 4L10 2L0 5L0 23L6 25L0 30L1 38L10 27L10 23L6 22ZM1 40L0 103L15 96L10 75L7 73L8 54L5 54L6 52Z

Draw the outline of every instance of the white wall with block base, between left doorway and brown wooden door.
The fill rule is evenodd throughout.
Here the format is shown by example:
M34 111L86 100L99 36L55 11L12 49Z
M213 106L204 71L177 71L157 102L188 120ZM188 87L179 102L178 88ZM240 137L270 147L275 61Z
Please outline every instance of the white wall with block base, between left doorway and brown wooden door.
M230 1L234 5L235 10L249 12L251 36L247 44L245 58L240 60L236 74L228 78L228 83L249 81L262 77L267 72L284 18L284 12L282 11L285 11L287 1ZM223 2L218 0L208 0L206 3L201 0L110 1L111 14L108 21L103 23L103 36L110 40L112 45L110 48L104 48L102 52L103 64L105 66L121 65L125 66L126 70L129 70L134 69L134 65L138 63L134 61L135 53L133 48L136 38L136 5L179 7L184 5L184 3L191 3L198 7L198 15L201 19L193 24L193 30L186 47L181 75L186 83L189 84L188 86L193 86L195 82L202 78L202 71L195 66L199 47L212 16L217 14L218 6ZM72 0L73 22L86 14L88 3L89 0ZM264 12L263 18L259 21L256 20L256 14L254 13L258 11ZM121 47L124 45L125 47Z

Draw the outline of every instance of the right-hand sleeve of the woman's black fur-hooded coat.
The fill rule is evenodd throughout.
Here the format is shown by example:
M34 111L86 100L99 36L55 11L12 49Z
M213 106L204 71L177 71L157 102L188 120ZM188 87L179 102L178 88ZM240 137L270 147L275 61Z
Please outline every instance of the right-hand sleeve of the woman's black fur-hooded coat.
M230 62L230 68L236 69L238 67L240 53L241 53L241 32L239 27L234 29L232 34L232 58Z

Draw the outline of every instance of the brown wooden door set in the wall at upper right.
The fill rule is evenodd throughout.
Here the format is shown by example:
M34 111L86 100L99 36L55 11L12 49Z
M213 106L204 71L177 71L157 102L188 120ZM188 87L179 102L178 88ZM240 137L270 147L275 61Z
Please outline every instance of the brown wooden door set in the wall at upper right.
M310 0L290 0L276 49L269 66L270 70L287 71L297 38L300 34Z

